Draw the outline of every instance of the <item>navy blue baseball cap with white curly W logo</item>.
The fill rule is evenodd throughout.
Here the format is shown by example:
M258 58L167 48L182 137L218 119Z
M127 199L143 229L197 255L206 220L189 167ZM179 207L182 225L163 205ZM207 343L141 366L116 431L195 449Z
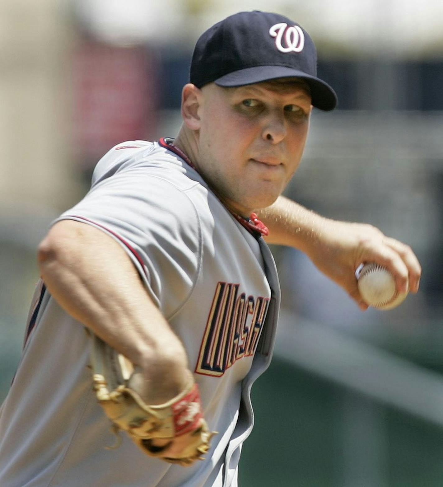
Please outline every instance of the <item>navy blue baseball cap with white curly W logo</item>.
M243 86L283 77L307 83L312 104L324 111L337 105L337 95L317 77L317 55L309 34L283 15L240 12L216 23L198 39L192 55L190 82Z

